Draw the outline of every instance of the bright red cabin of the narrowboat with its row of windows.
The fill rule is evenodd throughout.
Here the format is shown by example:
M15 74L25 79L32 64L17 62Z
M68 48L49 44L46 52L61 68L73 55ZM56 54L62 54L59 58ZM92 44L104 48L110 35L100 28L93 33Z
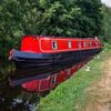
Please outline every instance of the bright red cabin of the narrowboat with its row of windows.
M102 43L98 39L47 38L26 36L21 41L21 51L57 53L74 50L100 49Z

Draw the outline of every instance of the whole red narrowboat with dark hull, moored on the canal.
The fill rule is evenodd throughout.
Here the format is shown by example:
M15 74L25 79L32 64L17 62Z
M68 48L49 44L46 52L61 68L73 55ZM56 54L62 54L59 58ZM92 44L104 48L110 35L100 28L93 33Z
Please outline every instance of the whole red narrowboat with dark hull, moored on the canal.
M17 68L37 68L44 73L44 69L53 65L65 65L63 67L65 69L92 58L101 51L101 48L99 39L24 36L20 50L11 50L9 59Z

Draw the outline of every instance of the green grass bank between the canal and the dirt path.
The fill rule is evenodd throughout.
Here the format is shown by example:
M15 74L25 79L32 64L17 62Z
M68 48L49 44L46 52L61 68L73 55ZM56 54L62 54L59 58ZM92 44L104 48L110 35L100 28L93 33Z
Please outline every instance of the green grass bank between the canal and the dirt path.
M78 71L71 79L61 83L49 95L42 98L37 105L37 111L79 111L87 103L84 89L101 79L103 74L103 61L111 56L110 46L107 44L104 50L90 61L85 67ZM90 67L90 71L85 71Z

